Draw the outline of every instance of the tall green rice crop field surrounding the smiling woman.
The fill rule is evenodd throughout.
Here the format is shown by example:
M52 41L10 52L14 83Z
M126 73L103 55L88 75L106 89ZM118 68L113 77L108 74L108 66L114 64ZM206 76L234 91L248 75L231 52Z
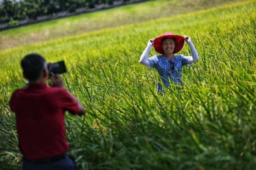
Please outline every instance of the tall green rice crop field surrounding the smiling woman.
M87 108L66 113L78 169L255 168L255 9L245 1L1 50L0 169L21 165L8 100L25 84L20 59L32 52L65 60L65 86ZM139 58L167 31L190 36L200 60L183 67L181 91L162 96L156 70ZM190 55L188 45L179 53Z

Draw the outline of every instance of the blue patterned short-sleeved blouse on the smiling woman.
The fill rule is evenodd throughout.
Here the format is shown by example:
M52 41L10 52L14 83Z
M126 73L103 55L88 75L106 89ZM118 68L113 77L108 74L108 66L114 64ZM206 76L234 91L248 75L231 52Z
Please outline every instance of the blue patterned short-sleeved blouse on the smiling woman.
M173 82L175 84L181 84L183 85L183 82L181 81L181 70L182 66L188 65L188 56L184 56L182 54L180 55L174 55L172 58L173 66L171 64L171 60L169 60L164 55L153 55L152 57L148 58L150 62L150 66L146 66L149 70L153 67L156 68L159 77L163 81L163 83L169 87L170 82ZM162 91L163 87L158 82L157 84L157 91Z

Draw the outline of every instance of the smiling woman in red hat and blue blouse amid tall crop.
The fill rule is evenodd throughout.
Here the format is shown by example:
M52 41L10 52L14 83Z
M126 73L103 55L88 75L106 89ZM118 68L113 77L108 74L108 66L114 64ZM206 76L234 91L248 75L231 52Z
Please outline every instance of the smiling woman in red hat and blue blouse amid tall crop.
M188 43L192 56L184 56L182 54L174 55L182 49L184 41ZM162 55L153 55L148 58L148 52L152 45L154 45L156 52ZM190 37L186 35L183 37L174 35L171 32L166 32L156 37L156 39L150 39L148 46L140 56L140 63L145 65L149 70L155 67L160 75L161 81L167 87L170 87L170 83L183 85L181 81L182 66L193 64L198 60L198 53ZM163 87L159 82L157 84L157 91L163 92Z

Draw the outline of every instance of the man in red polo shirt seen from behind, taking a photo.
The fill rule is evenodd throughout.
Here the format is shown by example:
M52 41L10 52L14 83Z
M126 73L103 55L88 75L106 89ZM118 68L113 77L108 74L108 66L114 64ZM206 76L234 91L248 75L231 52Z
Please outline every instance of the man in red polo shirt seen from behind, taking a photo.
M50 73L39 54L28 54L21 60L23 76L29 83L16 89L9 101L16 115L19 148L23 169L76 169L74 160L66 154L64 113L83 115L84 106L64 88L58 74Z

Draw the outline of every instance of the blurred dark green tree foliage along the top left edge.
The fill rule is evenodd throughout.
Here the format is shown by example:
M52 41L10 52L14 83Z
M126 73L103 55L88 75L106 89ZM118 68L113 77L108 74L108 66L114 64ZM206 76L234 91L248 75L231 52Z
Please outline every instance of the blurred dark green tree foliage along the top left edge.
M74 12L77 8L94 8L95 4L113 4L113 0L3 0L0 2L0 23L12 20L52 15L60 11Z

